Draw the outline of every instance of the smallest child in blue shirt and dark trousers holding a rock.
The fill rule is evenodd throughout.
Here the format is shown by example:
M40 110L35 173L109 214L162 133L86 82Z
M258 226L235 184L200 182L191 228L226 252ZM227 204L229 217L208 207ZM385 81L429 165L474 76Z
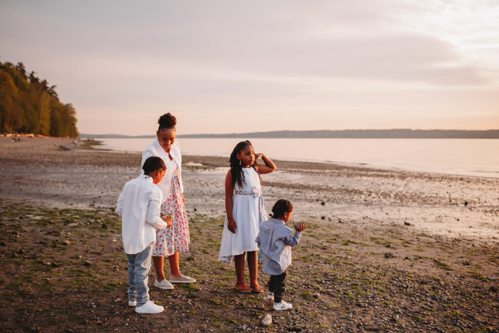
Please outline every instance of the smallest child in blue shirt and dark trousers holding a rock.
M286 291L287 267L291 264L291 247L298 244L307 226L303 223L294 226L293 235L292 229L284 225L293 213L293 205L287 200L277 200L272 213L270 220L260 224L255 242L260 248L262 271L270 275L267 299L273 301L274 310L289 310L293 306L282 298Z

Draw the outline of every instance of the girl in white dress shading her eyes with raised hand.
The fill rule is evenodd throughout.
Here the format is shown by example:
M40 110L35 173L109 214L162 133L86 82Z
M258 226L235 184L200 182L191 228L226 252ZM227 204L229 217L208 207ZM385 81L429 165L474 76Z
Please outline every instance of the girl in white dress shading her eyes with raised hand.
M261 158L265 165L257 165ZM255 154L250 141L242 141L231 153L231 170L225 178L225 219L219 260L236 265L236 289L262 293L258 285L258 246L255 238L260 223L268 220L260 190L260 175L273 172L275 164L263 154ZM250 286L245 283L245 254L248 256Z

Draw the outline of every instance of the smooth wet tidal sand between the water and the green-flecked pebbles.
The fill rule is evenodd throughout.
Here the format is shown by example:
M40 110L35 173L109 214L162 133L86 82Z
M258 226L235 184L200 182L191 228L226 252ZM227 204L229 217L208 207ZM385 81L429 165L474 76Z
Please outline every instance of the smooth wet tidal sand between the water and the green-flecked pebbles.
M112 208L123 184L140 171L137 153L87 150L81 145L69 151L58 148L70 144L70 139L0 139L0 196L4 199L50 207ZM499 240L499 179L275 163L277 171L262 176L267 208L287 198L295 206L295 219L407 222L422 232L446 237ZM227 159L184 156L183 164L187 210L225 215Z

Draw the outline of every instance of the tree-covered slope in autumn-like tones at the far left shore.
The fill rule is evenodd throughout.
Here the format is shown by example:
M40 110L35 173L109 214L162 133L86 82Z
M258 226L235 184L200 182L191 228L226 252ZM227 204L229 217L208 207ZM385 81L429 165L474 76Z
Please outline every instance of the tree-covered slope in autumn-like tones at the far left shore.
M0 62L0 132L78 136L74 107L61 103L54 89L26 73L22 62Z

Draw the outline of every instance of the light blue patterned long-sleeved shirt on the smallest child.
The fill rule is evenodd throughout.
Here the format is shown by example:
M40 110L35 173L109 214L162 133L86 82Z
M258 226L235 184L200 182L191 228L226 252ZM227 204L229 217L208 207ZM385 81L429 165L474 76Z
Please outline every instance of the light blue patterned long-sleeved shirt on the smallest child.
M255 242L260 248L262 271L269 275L284 273L291 264L291 247L298 244L301 233L284 225L284 221L270 218L260 224Z

